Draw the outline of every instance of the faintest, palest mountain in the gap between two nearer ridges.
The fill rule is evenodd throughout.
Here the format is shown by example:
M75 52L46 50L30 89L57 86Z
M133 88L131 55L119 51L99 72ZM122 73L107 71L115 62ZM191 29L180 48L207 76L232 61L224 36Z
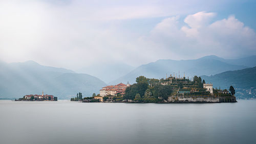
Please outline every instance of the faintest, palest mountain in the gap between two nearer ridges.
M102 79L105 83L110 83L133 69L134 67L118 61L102 61L102 63L83 67L77 70L77 72L87 73Z

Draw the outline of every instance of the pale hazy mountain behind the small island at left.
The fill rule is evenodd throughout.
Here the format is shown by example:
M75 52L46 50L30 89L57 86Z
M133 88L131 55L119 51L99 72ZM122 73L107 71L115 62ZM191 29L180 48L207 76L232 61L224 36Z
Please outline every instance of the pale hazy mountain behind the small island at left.
M7 98L41 94L42 90L58 98L69 98L78 92L82 92L83 96L91 96L106 86L97 77L41 66L34 61L0 63L0 79L0 97Z

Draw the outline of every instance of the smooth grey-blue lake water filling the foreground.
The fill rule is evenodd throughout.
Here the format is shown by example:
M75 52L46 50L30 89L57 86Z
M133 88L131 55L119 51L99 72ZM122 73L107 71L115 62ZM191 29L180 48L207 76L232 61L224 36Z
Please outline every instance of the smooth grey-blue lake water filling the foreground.
M0 143L256 143L256 100L124 104L0 100Z

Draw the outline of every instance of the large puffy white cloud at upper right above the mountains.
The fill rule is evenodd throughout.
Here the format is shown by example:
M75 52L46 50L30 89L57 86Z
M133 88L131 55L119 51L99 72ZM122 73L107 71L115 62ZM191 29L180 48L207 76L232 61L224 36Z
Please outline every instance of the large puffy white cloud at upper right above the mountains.
M188 15L184 19L186 25L183 26L180 25L179 17L168 17L157 24L150 35L139 40L165 50L162 54L164 58L210 54L233 58L256 53L253 29L244 26L234 16L209 23L215 15L211 12Z

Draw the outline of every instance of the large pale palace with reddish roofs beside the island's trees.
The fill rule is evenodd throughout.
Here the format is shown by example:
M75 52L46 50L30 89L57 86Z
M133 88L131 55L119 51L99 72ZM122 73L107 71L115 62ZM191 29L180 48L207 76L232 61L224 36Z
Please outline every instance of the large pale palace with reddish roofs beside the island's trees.
M99 90L99 95L102 97L106 95L111 95L111 96L117 96L117 94L123 95L124 91L129 86L130 86L129 83L127 83L127 85L120 83L114 86L113 85L106 86L106 87L103 87L101 90Z

